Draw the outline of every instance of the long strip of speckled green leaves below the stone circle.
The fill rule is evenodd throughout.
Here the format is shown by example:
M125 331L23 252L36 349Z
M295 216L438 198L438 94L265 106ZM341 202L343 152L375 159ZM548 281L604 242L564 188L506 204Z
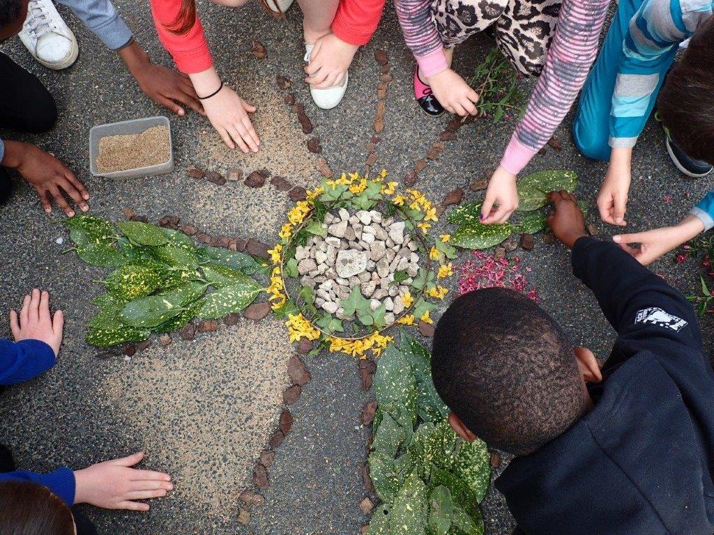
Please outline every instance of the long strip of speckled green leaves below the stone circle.
M431 377L431 357L404 334L374 376L378 409L368 464L377 495L368 535L482 535L478 504L491 481L481 440L465 442Z

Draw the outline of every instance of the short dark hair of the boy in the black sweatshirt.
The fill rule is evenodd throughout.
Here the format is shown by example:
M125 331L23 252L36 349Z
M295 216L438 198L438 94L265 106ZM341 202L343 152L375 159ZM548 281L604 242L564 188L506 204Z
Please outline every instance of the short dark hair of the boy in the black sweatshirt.
M587 410L571 345L514 290L474 290L454 301L436 326L431 372L471 432L515 455L535 452Z

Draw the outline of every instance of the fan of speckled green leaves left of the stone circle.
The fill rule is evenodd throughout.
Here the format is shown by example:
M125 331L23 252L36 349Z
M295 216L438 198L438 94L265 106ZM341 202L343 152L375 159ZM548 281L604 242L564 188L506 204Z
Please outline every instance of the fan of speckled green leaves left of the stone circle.
M94 215L75 215L65 225L75 245L70 250L79 258L114 267L100 281L106 293L92 302L99 312L87 324L91 345L139 342L152 332L181 329L194 317L239 312L263 291L250 277L265 272L256 259L221 248L197 248L178 230L139 221L114 227Z

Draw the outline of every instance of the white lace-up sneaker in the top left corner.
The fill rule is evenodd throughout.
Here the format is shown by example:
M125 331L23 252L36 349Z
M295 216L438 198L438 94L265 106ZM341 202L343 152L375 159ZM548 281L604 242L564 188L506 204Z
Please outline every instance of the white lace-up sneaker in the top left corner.
M79 54L77 40L52 0L29 0L19 35L37 61L56 71L71 66Z

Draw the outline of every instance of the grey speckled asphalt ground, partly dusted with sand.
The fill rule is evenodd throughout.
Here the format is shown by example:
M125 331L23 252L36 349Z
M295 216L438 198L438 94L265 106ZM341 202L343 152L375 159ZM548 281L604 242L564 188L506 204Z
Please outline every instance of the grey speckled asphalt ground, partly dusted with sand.
M255 235L272 243L288 208L285 194L268 187L248 194L241 185L217 188L210 183L199 184L187 178L183 170L190 163L217 169L266 167L277 174L290 171L288 178L298 183L317 183L318 173L311 167L314 157L303 149L302 133L289 126L293 118L286 117L286 107L274 88L277 74L295 82L298 101L305 104L316 124L315 134L321 138L323 155L331 167L361 169L366 158L364 145L372 135L379 72L373 51L377 48L388 51L394 76L378 165L401 179L448 121L446 117L429 120L413 101L413 60L391 7L372 43L356 57L343 103L325 112L313 106L300 82L303 48L301 14L296 7L286 21L276 21L264 15L257 2L241 10L206 1L200 4L219 73L239 93L251 96L259 108L256 123L266 140L265 152L259 157L244 159L240 153L229 155L217 149L208 121L190 113L186 118L171 116L176 156L176 171L171 175L129 181L92 178L87 151L91 126L163 114L164 110L144 98L119 58L106 51L66 10L62 11L81 49L79 61L68 70L56 73L42 68L19 40L3 46L7 54L36 73L56 97L60 118L54 130L27 139L56 154L85 180L92 194L92 213L111 220L123 219L123 208L133 208L154 220L175 214L209 233ZM117 7L154 61L170 65L169 56L156 40L148 3L119 0ZM251 54L253 39L262 41L268 50L263 61ZM462 73L468 73L490 46L486 39L479 39L457 52L456 66ZM548 149L543 156L535 157L528 170L577 170L578 195L593 200L605 164L578 155L570 141L571 121L572 114L557 133L563 150ZM271 128L283 131L283 136L276 136ZM457 185L487 177L498 164L512 128L513 123L491 126L488 121L463 128L458 141L449 144L441 159L423 173L419 187L439 200ZM635 151L629 228L674 223L709 187L708 179L692 181L677 173L668 161L660 128L650 123ZM668 202L663 200L665 196ZM274 340L280 336L280 327L267 323L253 332L240 327L223 330L212 342L206 341L211 335L204 335L196 345L176 345L164 353L152 350L150 355L135 357L129 363L96 360L96 350L86 346L83 337L84 322L94 310L89 301L99 293L92 281L101 270L86 267L73 255L60 254L63 247L55 240L65 236L62 216L46 216L26 184L20 184L10 203L0 210L2 309L18 306L24 292L37 286L50 290L54 305L63 308L68 318L64 349L55 369L12 387L0 404L4 422L0 442L14 449L21 467L84 467L143 448L148 454L146 467L174 472L177 484L184 483L184 488L170 498L154 502L147 514L87 509L101 534L358 533L366 521L358 509L365 496L358 470L366 458L367 438L366 430L358 426L358 415L371 393L362 391L353 359L329 354L308 358L313 381L293 406L296 422L278 448L270 470L266 506L253 511L250 526L243 528L237 524L231 504L239 490L238 482L247 478L247 467L258 455L257 444L266 441L269 430L261 434L256 429L250 433L255 444L235 444L235 448L231 448L231 432L236 426L251 427L253 408L266 412L273 421L278 413L275 400L272 405L253 407L258 398L251 396L258 394L251 394L251 383L256 382L258 390L266 380L261 375L261 366L266 366L262 360L271 357L269 365L280 367L290 355L286 343ZM613 230L598 223L593 213L590 220L605 238ZM445 223L441 225L447 228ZM467 256L461 253L460 260ZM570 276L568 252L558 245L544 245L538 238L535 249L521 256L523 266L532 268L528 278L538 287L543 307L555 315L575 343L589 345L606 357L613 330L588 290ZM697 291L695 263L674 265L673 255L668 255L654 268L685 292ZM707 319L703 326L710 344L712 323ZM181 380L186 374L191 381ZM271 374L271 380L280 382L280 376ZM217 430L226 435L221 442L211 431L223 420L228 422ZM207 444L212 441L216 442L213 448ZM204 458L202 452L207 452ZM253 452L254 457L241 464L238 457L246 457L246 452ZM235 464L228 469L233 472L226 474L231 462ZM192 488L186 488L189 484ZM510 534L510 516L503 499L493 490L484 504L484 516L488 533Z

